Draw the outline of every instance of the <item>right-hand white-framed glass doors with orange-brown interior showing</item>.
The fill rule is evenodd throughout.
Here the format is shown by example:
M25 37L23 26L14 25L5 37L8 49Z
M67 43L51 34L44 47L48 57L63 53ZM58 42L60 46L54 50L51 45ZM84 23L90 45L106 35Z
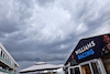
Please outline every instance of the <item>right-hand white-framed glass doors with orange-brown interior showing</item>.
M80 64L82 74L103 74L100 65L98 60L91 60Z

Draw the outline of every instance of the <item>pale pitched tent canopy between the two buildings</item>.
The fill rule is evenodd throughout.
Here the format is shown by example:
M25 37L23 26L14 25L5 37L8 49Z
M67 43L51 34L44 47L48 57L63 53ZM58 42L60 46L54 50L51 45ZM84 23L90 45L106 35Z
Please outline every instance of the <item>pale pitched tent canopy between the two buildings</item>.
M45 71L45 70L57 70L57 68L61 68L64 65L54 65L54 64L47 64L46 62L38 62L33 66L21 70L20 73Z

